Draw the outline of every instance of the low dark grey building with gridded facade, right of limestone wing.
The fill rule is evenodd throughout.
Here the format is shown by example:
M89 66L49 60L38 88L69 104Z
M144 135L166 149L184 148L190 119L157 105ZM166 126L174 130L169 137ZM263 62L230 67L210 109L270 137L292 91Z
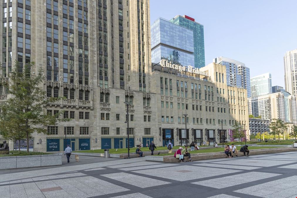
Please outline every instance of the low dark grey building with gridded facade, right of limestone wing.
M269 131L269 120L259 118L249 118L249 131L251 134L256 135L258 133L263 134Z

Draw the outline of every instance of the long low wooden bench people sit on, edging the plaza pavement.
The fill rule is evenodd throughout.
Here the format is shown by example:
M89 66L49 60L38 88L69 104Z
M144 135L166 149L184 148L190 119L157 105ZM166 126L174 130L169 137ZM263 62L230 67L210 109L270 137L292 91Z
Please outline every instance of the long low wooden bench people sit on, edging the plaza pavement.
M289 152L289 151L297 151L296 148L265 148L265 149L253 149L249 151L249 155L260 155L260 154L269 154L269 153L281 153L281 152ZM190 152L191 153L191 152ZM243 152L238 152L238 156L244 156ZM206 159L217 159L217 158L225 158L226 154L224 152L216 152L216 153L193 153L191 154L191 158L193 161L198 160L206 160ZM188 157L185 157L185 160L189 160ZM164 162L175 163L179 162L179 159L170 156L163 156Z

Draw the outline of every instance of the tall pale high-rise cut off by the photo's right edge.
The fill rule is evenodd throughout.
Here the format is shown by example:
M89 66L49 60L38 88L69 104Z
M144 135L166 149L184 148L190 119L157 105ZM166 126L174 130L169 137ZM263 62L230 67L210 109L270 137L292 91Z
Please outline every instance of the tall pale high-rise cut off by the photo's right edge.
M287 51L284 56L285 90L297 97L297 49Z

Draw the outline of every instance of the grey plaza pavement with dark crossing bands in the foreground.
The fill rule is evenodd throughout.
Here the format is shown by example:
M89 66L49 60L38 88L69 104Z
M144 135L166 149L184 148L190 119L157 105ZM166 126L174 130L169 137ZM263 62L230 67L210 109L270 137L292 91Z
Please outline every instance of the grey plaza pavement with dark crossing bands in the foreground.
M1 198L297 197L297 152L173 164L83 156L0 175Z

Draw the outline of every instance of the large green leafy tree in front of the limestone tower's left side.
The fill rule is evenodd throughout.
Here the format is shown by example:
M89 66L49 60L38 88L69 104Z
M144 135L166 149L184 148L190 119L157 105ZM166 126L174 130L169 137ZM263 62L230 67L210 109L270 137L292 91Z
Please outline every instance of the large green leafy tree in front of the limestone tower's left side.
M18 62L8 77L0 76L1 84L11 97L0 104L0 132L4 137L29 137L33 133L48 134L47 127L55 126L57 122L69 121L59 119L57 115L47 115L46 105L60 98L46 97L46 91L41 84L44 73L40 69L36 75L31 75L34 63L24 65L20 69ZM59 111L62 114L63 111ZM27 146L29 152L29 146Z

